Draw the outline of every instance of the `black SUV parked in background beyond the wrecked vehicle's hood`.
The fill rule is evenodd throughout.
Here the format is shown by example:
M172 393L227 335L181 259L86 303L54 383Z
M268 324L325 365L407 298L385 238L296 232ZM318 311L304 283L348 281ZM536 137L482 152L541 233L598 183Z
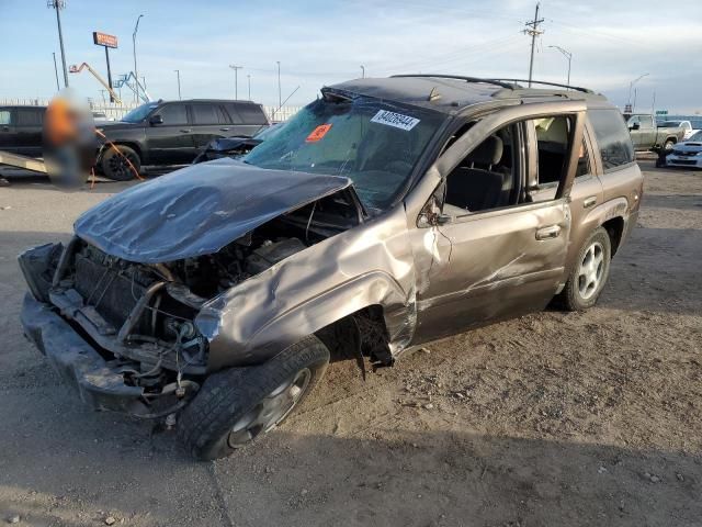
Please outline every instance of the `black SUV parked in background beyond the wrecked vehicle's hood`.
M251 136L269 124L263 108L251 101L147 102L121 121L98 127L120 149L106 144L98 167L111 179L132 179L141 165L191 162L213 138Z

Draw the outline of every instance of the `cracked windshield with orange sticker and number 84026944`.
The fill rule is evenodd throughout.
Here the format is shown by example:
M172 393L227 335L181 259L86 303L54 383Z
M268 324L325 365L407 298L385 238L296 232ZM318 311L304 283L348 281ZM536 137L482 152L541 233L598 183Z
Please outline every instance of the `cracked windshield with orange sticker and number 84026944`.
M346 176L366 208L382 210L409 181L441 122L433 111L327 93L244 161L275 170Z

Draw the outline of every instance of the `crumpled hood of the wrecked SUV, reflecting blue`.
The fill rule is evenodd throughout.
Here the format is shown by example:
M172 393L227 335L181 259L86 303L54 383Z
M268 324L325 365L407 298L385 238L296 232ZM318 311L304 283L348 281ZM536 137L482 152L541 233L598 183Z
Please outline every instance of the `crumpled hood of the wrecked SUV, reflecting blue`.
M351 184L229 158L120 192L83 213L76 234L109 255L160 264L216 253L257 226Z

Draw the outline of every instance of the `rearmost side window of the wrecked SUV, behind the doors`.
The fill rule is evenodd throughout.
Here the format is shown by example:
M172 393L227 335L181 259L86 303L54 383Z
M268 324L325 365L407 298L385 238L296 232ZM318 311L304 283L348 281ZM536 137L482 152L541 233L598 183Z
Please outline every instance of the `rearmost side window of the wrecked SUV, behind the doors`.
M634 161L634 146L618 110L588 110L607 172Z

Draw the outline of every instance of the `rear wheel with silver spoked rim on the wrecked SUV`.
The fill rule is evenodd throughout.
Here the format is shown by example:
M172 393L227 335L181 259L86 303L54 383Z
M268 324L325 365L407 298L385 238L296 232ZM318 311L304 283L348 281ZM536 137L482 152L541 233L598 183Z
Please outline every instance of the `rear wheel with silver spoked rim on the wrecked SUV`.
M597 254L601 255L601 269L597 265ZM590 253L592 250L592 253ZM585 267L590 255L595 258L595 266L589 269ZM567 311L585 311L592 307L607 283L610 276L612 261L612 242L610 235L603 227L598 227L582 244L565 288L557 296L558 303ZM585 273L585 274L584 274ZM597 284L590 287L590 280L597 278Z

